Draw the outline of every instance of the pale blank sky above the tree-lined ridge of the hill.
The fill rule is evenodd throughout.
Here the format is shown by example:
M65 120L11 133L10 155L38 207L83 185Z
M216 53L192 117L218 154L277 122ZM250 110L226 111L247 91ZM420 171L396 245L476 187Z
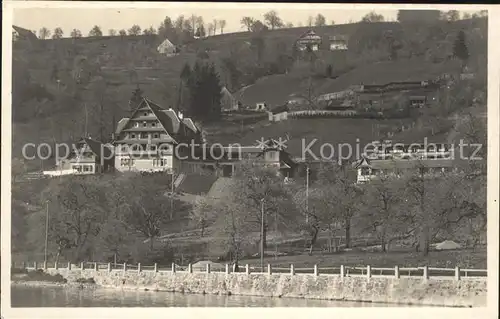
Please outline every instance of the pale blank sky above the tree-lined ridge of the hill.
M111 5L118 7L120 4L111 3ZM151 8L152 5L156 7ZM240 23L242 17L250 16L263 20L263 15L270 10L277 11L285 23L292 22L294 26L299 26L299 23L302 23L305 26L308 17L316 16L318 13L325 16L328 24L332 20L336 24L349 23L350 20L359 21L371 11L371 8L364 7L359 10L349 10L340 9L339 5L294 5L291 3L273 3L272 5L269 3L150 3L149 8L141 7L136 9L124 8L123 6L114 9L97 8L95 6L89 8L86 5L84 8L14 9L13 23L29 30L37 30L37 33L42 27L49 30L61 27L65 36L68 36L73 28L79 29L83 35L87 35L94 25L100 26L104 34L107 34L109 29L128 30L134 24L138 24L143 29L150 26L158 28L165 16L175 20L181 14L186 17L195 14L202 16L205 24L214 19L226 20L224 33L230 33L245 30ZM386 20L396 19L397 15L397 11L390 8L377 9L376 12L382 14Z

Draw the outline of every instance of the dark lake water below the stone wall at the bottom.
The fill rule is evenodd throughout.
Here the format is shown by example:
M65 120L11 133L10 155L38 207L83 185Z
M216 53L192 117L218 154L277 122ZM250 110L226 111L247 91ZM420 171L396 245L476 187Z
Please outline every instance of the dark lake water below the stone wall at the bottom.
M194 295L170 292L12 286L12 307L387 307L385 304Z

